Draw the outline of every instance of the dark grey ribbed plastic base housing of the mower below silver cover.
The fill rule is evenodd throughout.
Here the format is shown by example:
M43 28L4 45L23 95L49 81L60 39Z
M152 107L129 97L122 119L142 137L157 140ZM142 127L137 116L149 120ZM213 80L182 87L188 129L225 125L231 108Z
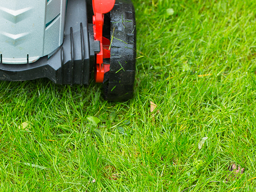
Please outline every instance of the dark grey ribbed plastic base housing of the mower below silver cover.
M63 44L50 58L26 64L0 63L0 80L22 81L48 78L56 84L89 84L100 42L94 40L87 21L85 0L68 0Z

